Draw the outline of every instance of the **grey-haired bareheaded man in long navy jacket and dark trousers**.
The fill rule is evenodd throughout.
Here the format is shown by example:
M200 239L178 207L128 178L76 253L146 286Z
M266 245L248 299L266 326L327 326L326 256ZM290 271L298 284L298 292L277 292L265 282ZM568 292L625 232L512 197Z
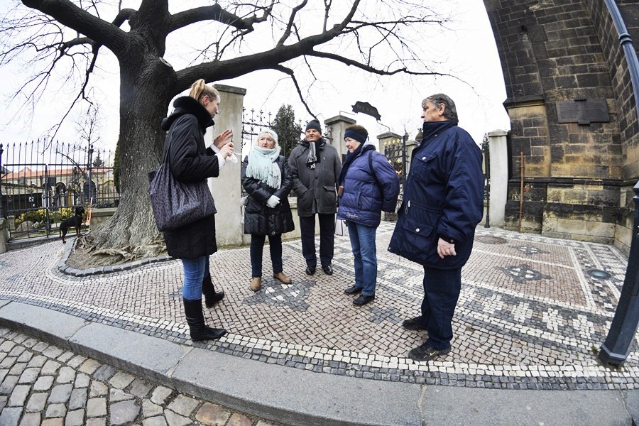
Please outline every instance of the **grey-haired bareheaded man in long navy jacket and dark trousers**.
M484 175L479 146L457 126L452 99L434 94L422 109L424 138L411 157L388 250L424 267L422 314L403 327L428 330L426 342L408 357L430 361L450 351L461 267L484 214Z

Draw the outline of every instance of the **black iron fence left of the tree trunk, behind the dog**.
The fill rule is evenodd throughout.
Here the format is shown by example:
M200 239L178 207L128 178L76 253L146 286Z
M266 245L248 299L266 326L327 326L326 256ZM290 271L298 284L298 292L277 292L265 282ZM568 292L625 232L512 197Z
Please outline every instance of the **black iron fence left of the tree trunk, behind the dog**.
M49 236L75 207L117 207L114 153L31 141L0 145L0 217L11 239Z

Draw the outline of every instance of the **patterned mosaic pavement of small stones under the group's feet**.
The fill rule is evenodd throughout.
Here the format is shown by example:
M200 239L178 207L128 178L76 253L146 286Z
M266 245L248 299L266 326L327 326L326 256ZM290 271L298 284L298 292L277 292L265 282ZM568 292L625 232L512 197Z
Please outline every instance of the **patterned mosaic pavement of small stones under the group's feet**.
M226 297L205 317L229 334L211 344L188 339L180 261L74 277L58 270L65 247L55 241L0 255L0 299L318 373L480 388L639 388L636 342L623 368L596 357L626 272L626 257L613 246L478 227L462 271L452 351L417 363L406 356L425 332L401 322L418 313L422 269L386 251L393 226L378 229L376 300L364 307L343 293L354 276L347 237L336 237L332 276L305 275L300 241L285 243L292 285L268 274L266 250L258 293L249 288L248 248L215 253L211 271Z

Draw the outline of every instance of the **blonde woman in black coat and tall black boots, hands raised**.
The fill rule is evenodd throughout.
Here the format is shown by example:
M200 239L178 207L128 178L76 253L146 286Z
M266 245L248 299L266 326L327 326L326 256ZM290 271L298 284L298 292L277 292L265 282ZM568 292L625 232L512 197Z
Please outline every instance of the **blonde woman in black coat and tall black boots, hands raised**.
M192 84L189 96L175 99L175 109L162 121L162 129L168 131L164 152L175 180L195 183L216 178L225 159L233 155L230 130L217 136L211 147L204 145L204 133L214 124L219 102L219 92L204 84L204 80L197 80ZM215 293L210 273L205 273L208 272L209 255L217 251L214 214L165 231L164 239L169 255L182 259L184 266L182 301L191 339L219 339L226 330L207 327L202 313L203 282L209 284L204 288L207 306L223 297L222 292Z

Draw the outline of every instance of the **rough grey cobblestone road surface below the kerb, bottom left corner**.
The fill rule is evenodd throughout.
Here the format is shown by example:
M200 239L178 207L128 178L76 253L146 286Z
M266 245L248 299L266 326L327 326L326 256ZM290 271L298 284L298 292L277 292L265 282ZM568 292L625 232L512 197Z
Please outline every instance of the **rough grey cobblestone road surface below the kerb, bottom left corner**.
M0 328L2 426L276 426Z

